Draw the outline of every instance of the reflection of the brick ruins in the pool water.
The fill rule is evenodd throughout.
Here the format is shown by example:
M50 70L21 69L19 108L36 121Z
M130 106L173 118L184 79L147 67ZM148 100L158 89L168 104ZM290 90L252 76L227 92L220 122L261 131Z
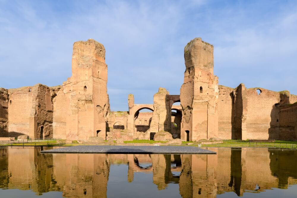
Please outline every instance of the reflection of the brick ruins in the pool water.
M40 148L0 149L1 188L62 191L64 197L107 197L110 166L152 174L159 190L179 185L181 197L286 189L297 183L297 151L221 148L217 155L41 154ZM131 188L133 184L131 184ZM120 187L119 187L120 188Z

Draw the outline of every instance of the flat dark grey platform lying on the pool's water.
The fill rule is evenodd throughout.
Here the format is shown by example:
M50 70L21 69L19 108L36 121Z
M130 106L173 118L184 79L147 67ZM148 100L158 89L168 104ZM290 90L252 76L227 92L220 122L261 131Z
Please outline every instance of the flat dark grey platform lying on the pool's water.
M69 146L50 149L41 153L110 153L110 154L217 154L193 146Z

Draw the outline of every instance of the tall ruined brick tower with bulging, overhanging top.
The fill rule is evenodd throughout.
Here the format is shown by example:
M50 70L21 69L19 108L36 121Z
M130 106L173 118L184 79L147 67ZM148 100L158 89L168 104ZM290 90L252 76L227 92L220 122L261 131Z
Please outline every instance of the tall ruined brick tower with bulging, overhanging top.
M218 84L214 76L214 47L195 38L184 48L186 71L181 86L181 139L217 137Z

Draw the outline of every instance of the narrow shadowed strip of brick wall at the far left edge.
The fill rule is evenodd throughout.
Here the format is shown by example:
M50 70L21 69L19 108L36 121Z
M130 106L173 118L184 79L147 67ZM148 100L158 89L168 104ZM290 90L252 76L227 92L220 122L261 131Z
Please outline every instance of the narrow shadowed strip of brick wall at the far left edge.
M8 90L0 88L0 137L6 137L8 131Z

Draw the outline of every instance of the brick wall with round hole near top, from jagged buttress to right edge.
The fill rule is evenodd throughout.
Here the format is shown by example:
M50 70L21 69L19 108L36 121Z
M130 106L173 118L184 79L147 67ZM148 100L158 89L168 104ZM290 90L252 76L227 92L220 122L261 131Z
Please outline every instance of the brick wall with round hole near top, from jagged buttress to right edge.
M294 100L289 91L246 89L240 84L233 91L231 138L295 140L295 104L290 104Z

